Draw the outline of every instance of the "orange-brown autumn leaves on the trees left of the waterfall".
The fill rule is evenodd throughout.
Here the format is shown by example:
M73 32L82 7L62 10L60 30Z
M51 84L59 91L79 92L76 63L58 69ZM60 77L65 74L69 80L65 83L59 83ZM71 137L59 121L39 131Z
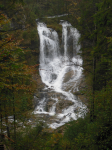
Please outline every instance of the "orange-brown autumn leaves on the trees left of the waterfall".
M17 99L15 101L18 104L21 102L21 99L17 97L18 93L26 96L33 93L35 87L33 86L32 74L35 73L35 68L38 66L38 64L28 66L26 61L21 60L25 51L19 47L21 40L15 40L13 33L4 28L9 23L10 20L7 16L0 11L0 94L3 116L4 112L10 114L9 104L12 105L12 99ZM5 107L2 106L4 102Z

